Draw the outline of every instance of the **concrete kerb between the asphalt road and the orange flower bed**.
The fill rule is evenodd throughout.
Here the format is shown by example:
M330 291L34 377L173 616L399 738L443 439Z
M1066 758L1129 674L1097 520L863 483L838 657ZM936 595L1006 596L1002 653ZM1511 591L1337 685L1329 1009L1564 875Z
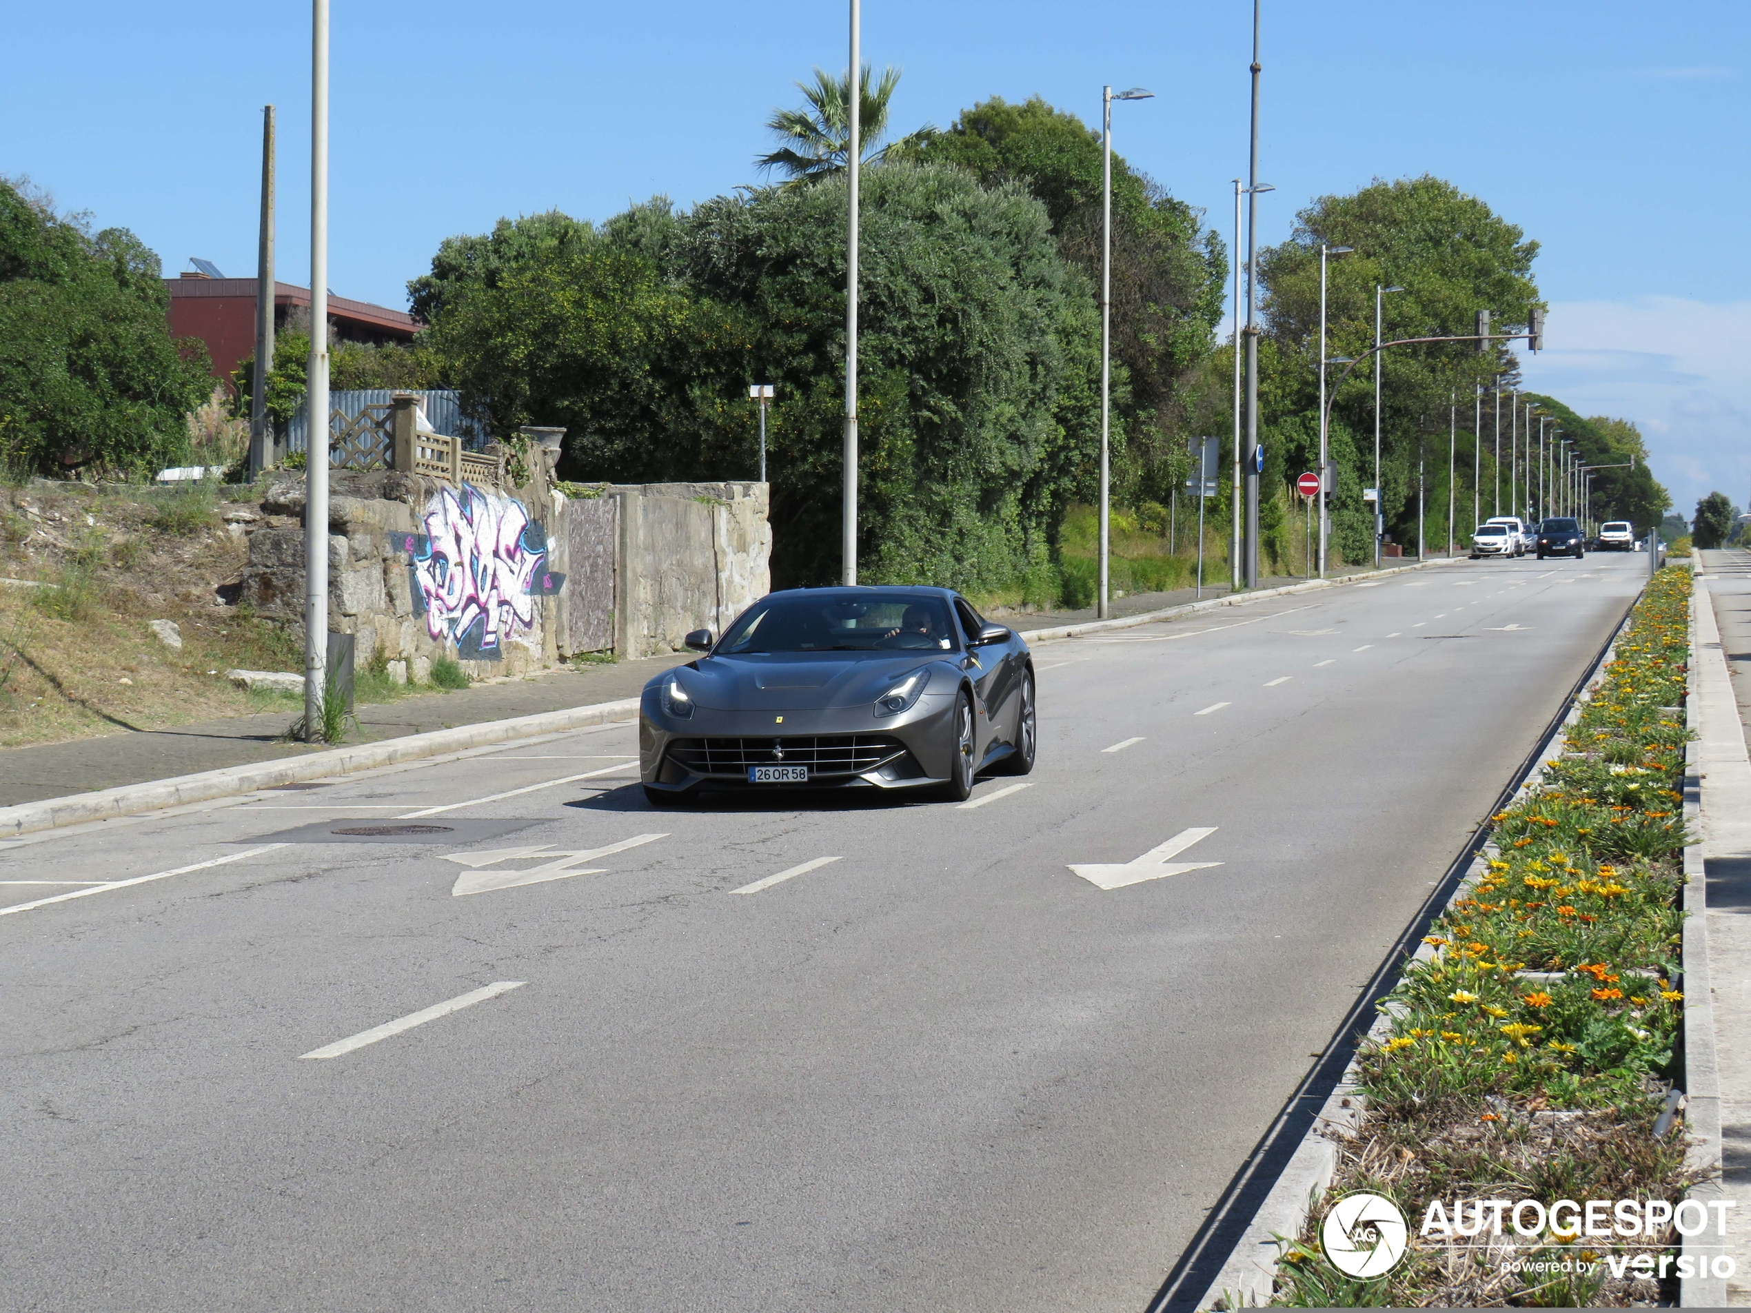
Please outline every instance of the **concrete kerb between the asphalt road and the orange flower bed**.
M1635 599L1641 600L1641 595ZM1630 611L1634 611L1634 602ZM1513 795L1508 807L1516 805L1527 791L1536 790L1544 779L1544 763L1551 758L1553 751L1558 751L1564 735L1569 727L1579 718L1581 707L1592 699L1593 690L1599 681L1606 678L1606 667L1611 664L1611 655L1616 651L1618 641L1623 637L1630 623L1630 616L1625 614L1623 623L1613 632L1611 641L1606 644L1604 651L1599 655L1592 674L1586 683L1569 699L1569 711L1557 723L1557 727L1544 735L1539 742L1537 751L1530 756L1530 765L1520 774L1518 784L1515 784ZM1492 814L1497 811L1490 809ZM1445 907L1452 905L1455 898L1464 898L1478 877L1488 868L1490 858L1497 853L1495 846L1483 844L1466 874L1460 877L1452 896L1446 900ZM1410 961L1427 961L1434 956L1434 947L1429 944L1418 944L1417 952L1411 954ZM1368 1028L1368 1036L1362 1043L1369 1040L1383 1038L1387 1028L1392 1024L1389 1012L1382 1012L1375 1024ZM1361 1043L1357 1050L1361 1050ZM1283 1164L1282 1175L1278 1175L1276 1183L1271 1185L1269 1194L1259 1204L1254 1213L1252 1222L1241 1232L1234 1248L1229 1250L1227 1260L1217 1271L1215 1280L1198 1299L1196 1308L1199 1309L1233 1309L1233 1308L1262 1308L1271 1302L1271 1292L1276 1281L1276 1262L1282 1257L1285 1245L1283 1241L1294 1241L1301 1234L1301 1227L1319 1203L1319 1197L1331 1187L1338 1175L1338 1138L1350 1134L1361 1122L1366 1101L1355 1085L1357 1077L1357 1059L1350 1059L1345 1068L1343 1077L1338 1078L1338 1085L1333 1089L1331 1096L1320 1105L1320 1110L1313 1117L1313 1126L1308 1127L1296 1152L1290 1155L1289 1162Z

